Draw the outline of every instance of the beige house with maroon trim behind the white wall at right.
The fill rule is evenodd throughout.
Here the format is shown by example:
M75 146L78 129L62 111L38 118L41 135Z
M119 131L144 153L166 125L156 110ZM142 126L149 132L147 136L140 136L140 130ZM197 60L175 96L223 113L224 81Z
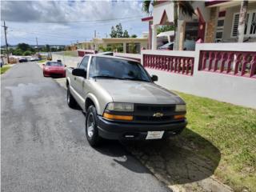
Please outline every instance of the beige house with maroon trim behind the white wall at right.
M178 32L176 34L175 50L183 50L184 42L189 37L196 42L238 42L238 21L241 1L194 1L195 15L188 18L178 14ZM154 3L152 16L142 18L149 22L149 46L156 50L157 29L162 25L173 25L174 4L171 1ZM256 42L256 2L249 1L246 15L245 42Z

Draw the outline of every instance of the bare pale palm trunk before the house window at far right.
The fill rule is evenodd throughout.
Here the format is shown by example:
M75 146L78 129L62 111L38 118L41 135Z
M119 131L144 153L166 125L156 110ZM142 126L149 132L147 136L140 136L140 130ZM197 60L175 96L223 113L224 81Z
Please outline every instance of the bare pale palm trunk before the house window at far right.
M248 7L248 1L243 0L241 2L241 8L240 8L240 14L239 14L238 42L243 42L243 38L245 36L247 7Z

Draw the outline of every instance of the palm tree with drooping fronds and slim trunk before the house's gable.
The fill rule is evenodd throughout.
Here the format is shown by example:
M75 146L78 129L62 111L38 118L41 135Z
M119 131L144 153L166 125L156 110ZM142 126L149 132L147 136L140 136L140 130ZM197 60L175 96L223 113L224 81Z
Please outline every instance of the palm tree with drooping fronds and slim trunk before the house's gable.
M144 0L142 4L142 11L146 12L147 14L150 14L150 5L157 2L156 0ZM194 8L191 6L190 1L174 1L174 38L177 33L178 29L178 10L182 11L182 14L189 16L190 18L193 16ZM176 47L176 46L174 46Z

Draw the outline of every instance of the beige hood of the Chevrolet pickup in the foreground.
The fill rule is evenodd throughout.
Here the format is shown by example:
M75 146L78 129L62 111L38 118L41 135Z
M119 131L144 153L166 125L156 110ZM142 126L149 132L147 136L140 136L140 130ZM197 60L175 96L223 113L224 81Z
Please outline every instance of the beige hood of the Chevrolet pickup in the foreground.
M96 84L106 90L114 102L147 104L183 104L182 98L152 82L97 79Z

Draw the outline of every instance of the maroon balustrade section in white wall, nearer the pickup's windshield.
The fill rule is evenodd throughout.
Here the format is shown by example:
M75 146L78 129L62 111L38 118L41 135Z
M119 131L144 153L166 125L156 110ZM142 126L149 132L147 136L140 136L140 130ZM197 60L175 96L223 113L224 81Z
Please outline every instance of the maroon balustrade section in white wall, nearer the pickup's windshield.
M193 75L194 58L143 54L143 66L155 70L165 70L171 73Z

